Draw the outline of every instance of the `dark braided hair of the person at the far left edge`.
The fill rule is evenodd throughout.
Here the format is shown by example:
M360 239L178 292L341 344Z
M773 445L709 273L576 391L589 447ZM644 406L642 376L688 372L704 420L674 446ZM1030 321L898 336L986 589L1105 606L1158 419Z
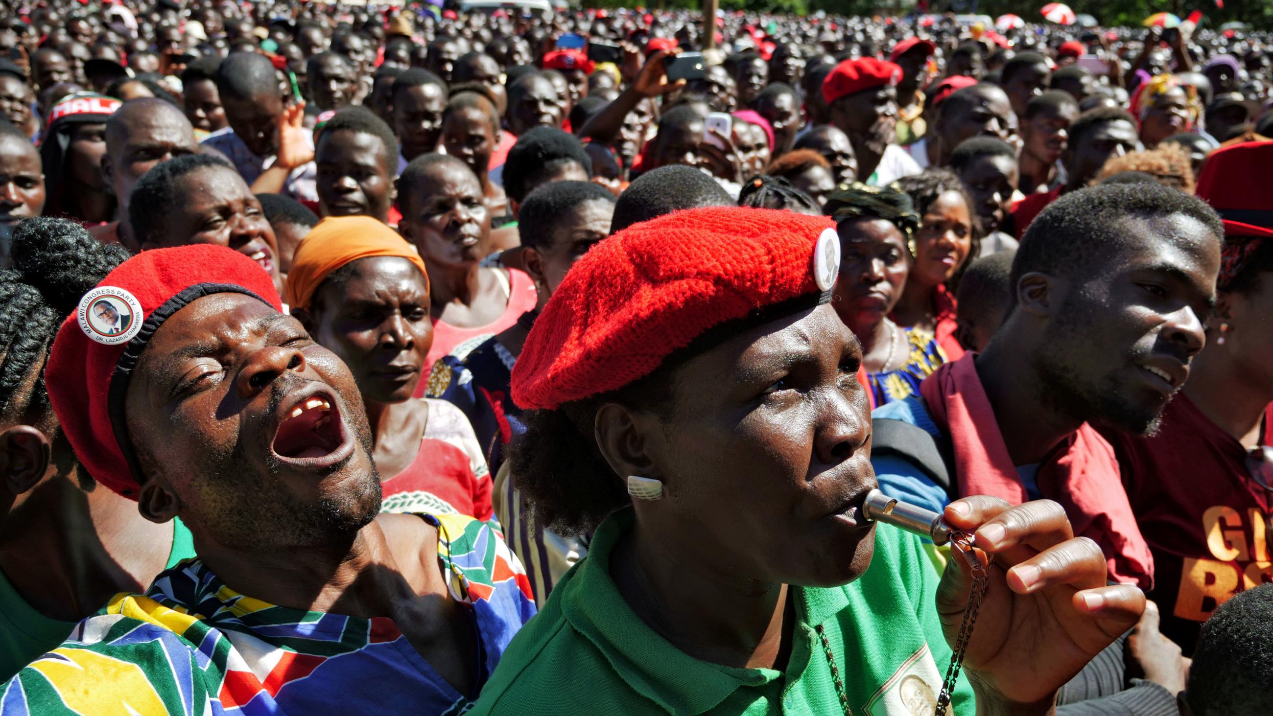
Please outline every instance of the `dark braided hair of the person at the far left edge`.
M38 216L13 231L13 268L0 270L0 416L45 423L52 411L43 369L53 337L80 298L129 258L83 226Z

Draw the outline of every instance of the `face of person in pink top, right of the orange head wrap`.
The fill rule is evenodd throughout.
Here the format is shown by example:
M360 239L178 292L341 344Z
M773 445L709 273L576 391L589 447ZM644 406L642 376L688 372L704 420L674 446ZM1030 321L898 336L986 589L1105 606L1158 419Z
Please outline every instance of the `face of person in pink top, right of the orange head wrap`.
M400 207L398 230L430 263L471 266L490 253L490 211L466 167L434 167Z

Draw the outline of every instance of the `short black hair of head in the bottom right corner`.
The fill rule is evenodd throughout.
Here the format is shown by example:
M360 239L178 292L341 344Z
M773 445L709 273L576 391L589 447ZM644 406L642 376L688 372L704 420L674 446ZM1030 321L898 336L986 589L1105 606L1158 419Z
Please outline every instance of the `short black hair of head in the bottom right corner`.
M1194 716L1254 716L1273 703L1273 584L1235 594L1202 624L1185 701Z

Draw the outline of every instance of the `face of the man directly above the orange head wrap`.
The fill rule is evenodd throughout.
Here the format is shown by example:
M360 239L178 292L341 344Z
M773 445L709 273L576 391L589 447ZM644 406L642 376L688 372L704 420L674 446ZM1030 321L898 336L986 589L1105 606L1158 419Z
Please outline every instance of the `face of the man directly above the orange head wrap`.
M314 153L320 212L387 221L393 203L388 153L376 135L349 130L323 132Z

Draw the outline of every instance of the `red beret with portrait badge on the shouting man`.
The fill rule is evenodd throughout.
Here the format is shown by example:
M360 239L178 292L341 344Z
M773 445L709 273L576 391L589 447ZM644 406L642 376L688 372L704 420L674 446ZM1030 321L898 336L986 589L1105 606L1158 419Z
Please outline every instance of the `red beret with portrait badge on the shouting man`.
M242 253L215 245L143 252L84 294L53 340L45 383L75 455L98 482L136 500L137 463L123 398L154 332L193 300L223 293L283 304L269 273Z

